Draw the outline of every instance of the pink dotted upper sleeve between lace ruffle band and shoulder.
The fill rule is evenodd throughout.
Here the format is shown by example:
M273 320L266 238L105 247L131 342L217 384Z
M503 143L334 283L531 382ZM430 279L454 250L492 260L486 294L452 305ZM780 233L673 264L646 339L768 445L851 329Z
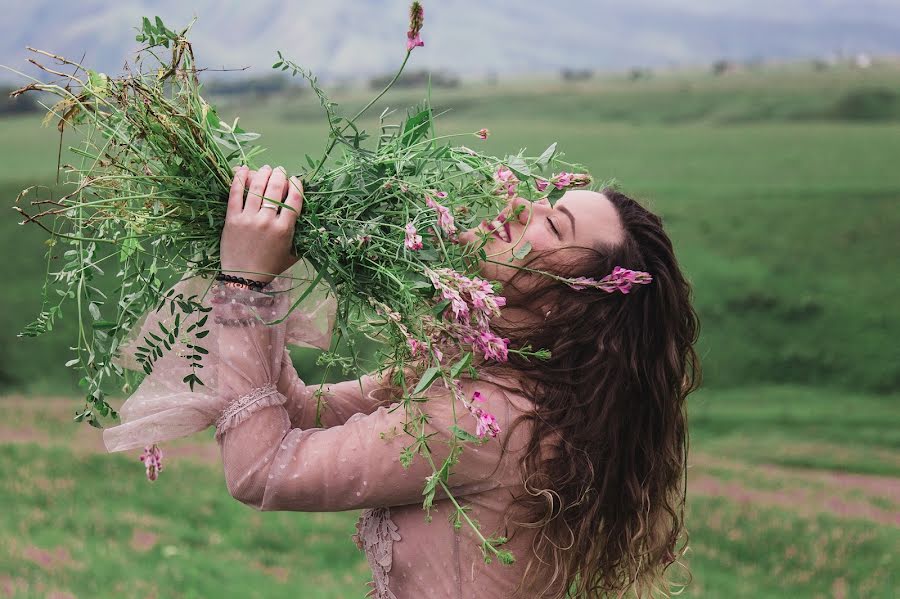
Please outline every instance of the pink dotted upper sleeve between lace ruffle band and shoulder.
M471 395L472 390L465 392ZM329 428L292 428L284 396L277 393L257 401L265 394L260 390L238 399L239 421L230 421L216 434L228 491L261 511L344 511L421 503L432 467L422 456L404 467L401 455L421 433L427 438L431 460L440 466L449 456L455 434L454 412L461 416L460 429L472 435L477 428L462 405L454 405L451 394L437 386L428 391L427 419L409 429L402 403L380 406L371 414L356 413L344 424ZM518 480L517 469L501 450L511 418L506 398L499 391L484 395L485 408L496 413L504 432L478 447L465 448L458 456L446 481L455 495ZM438 489L435 497L446 495Z

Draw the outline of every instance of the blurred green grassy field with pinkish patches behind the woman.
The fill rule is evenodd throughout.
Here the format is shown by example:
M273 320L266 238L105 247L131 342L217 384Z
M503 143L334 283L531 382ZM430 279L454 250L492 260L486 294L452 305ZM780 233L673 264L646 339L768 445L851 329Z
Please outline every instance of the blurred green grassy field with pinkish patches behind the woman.
M898 96L892 69L434 92L451 109L439 133L488 127L498 154L559 141L664 216L703 324L687 596L898 594ZM361 100L337 99L348 112ZM271 164L294 168L321 149L315 106L306 94L229 110L263 133ZM52 182L58 135L34 117L0 127L9 206ZM0 596L362 596L356 514L241 506L211 434L172 444L152 485L137 453L98 455L98 431L69 422L71 318L59 335L14 337L46 268L44 236L17 220L0 219Z

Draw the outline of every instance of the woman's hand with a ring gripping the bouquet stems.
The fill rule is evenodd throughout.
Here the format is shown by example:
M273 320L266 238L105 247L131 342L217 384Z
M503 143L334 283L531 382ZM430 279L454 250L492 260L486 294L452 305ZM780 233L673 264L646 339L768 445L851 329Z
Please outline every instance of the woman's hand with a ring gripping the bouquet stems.
M290 268L298 260L291 250L294 223L302 207L303 185L297 177L288 178L283 167L273 170L267 164L259 171L238 167L222 229L222 272L268 283Z

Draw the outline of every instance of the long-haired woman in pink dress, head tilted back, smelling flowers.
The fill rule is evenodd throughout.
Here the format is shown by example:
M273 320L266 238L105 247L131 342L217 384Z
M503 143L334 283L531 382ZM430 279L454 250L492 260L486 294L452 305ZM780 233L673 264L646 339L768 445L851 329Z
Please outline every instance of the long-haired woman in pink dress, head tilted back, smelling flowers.
M663 573L680 553L684 399L696 386L698 325L671 242L658 217L611 190L569 191L552 207L516 199L503 216L519 204L509 229L486 246L493 259L481 265L484 276L504 283L508 301L492 327L511 345L548 348L552 357L510 354L506 364L481 364L477 381L463 380L501 432L466 447L449 480L485 537L508 537L511 566L485 565L470 527L448 523L456 510L446 495L438 494L437 517L426 521L422 487L432 468L421 457L408 468L398 463L411 438L406 414L392 409L398 391L389 376L330 385L317 397L284 349L285 325L253 326L247 317L248 304L264 318L283 314L287 294L272 301L246 285L216 285L219 378L200 411L215 417L229 491L260 510L366 508L354 538L372 567L376 598L647 595L664 588ZM289 280L259 273L294 267L301 209L300 182L283 169L238 169L223 271L285 289ZM476 238L468 231L460 241ZM525 264L512 249L525 241L531 269L600 279L623 265L649 271L653 281L624 289L630 293L575 290L517 269ZM440 464L453 408L446 390L433 386L429 394L426 429Z

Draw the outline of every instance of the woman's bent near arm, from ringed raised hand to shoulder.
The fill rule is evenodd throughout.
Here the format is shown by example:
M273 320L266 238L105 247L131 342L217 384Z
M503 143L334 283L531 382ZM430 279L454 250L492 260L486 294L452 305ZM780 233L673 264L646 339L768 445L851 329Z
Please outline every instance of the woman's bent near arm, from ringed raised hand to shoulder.
M283 174L261 169L250 181L250 195L242 205L248 179L246 171L239 171L232 185L222 239L223 270L273 272L285 258L271 248L281 247L287 253L284 248L289 248L302 201L294 191L287 191ZM287 194L286 203L297 207L290 228L273 220L280 218L276 211L260 209L258 202L251 202L251 197L263 192L275 199ZM244 251L238 252L236 247ZM268 249L254 259L253 248ZM330 428L293 428L285 408L288 398L279 390L285 367L284 328L263 324L288 308L285 294L280 293L284 286L278 279L271 281L270 292L223 283L216 287L213 326L220 327L215 337L221 410L216 440L229 492L260 510L341 511L421 501L426 478L450 455L451 435L458 434L452 428L457 412L458 426L469 434L474 433L474 419L450 393L440 395L436 387L432 387L434 399L427 403L423 417L416 418L419 403L411 404L412 414L400 403L367 413L372 404L362 399L365 387L363 393L351 393L353 381L345 381L331 389L333 398L338 399L332 422L343 419L343 423ZM292 365L285 379L289 394L308 400L310 390L291 377L291 370ZM501 395L487 393L485 408L499 411ZM310 402L299 405L303 406L299 420L309 420ZM354 414L346 416L350 411ZM506 428L508 416L508 409L497 414L501 430ZM407 421L411 421L408 428ZM480 490L478 486L493 473L501 457L498 441L490 439L477 452L456 454L459 463L448 485L460 489L458 494ZM429 459L404 460L408 462L404 467L401 454L406 452L412 458L417 443L423 444Z

